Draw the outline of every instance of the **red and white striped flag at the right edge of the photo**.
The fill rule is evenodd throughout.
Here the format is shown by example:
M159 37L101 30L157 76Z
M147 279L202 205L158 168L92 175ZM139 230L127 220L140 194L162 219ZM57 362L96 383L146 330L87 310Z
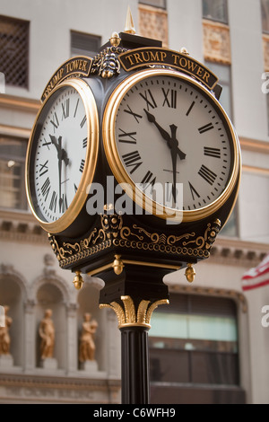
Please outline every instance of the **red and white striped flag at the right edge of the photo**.
M244 291L266 285L269 285L269 253L256 268L250 268L242 277Z

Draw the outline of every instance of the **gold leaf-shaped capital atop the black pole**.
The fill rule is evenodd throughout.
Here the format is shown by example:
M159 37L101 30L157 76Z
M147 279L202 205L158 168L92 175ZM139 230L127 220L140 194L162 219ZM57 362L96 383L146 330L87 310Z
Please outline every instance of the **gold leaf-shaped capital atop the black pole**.
M116 312L118 329L123 329L125 327L143 327L150 330L152 312L161 304L169 304L168 299L161 299L154 303L151 303L151 301L148 300L142 300L139 303L136 312L134 301L131 296L121 296L120 299L123 302L124 306L117 302L112 302L110 304L100 303L100 309L110 308L113 309L114 312Z

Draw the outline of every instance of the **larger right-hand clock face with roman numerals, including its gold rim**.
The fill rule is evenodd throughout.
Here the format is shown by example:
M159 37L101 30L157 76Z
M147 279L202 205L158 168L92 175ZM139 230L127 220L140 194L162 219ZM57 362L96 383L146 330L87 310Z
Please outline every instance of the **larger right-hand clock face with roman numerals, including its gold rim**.
M108 161L133 194L135 186L140 205L152 197L154 214L176 210L178 219L192 220L221 198L232 179L236 139L201 84L169 70L147 71L131 76L111 106Z

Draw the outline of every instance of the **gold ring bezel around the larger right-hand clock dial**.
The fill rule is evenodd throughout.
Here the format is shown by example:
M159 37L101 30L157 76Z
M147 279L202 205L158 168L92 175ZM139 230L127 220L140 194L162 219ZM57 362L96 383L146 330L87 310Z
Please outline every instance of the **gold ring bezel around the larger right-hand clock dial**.
M142 190L135 190L134 181L131 179L130 175L127 173L120 156L117 151L117 142L115 136L115 125L117 119L117 110L120 102L123 100L126 93L139 82L142 82L146 78L150 78L156 75L167 75L175 76L179 79L186 80L188 84L193 84L194 87L202 92L206 97L209 97L216 108L221 111L223 118L227 123L227 127L230 130L230 137L232 139L231 149L233 151L233 163L232 170L230 172L230 180L221 193L220 197L215 199L211 204L206 207L197 208L190 211L175 210L173 208L164 207L161 204L145 196ZM124 184L123 189L126 191L126 194L134 200L139 207L142 207L146 211L152 212L153 215L156 215L159 218L166 220L173 220L173 222L192 222L197 220L202 220L209 215L213 215L220 207L224 205L227 199L230 197L231 192L233 191L235 184L239 178L240 173L240 149L239 149L239 138L232 126L230 119L221 107L221 104L209 92L204 85L195 81L192 77L185 75L183 73L170 70L170 69L149 69L137 72L133 75L128 76L122 83L117 85L117 88L112 92L108 99L106 109L104 111L103 122L102 122L102 135L103 135L103 145L105 149L105 154L108 159L108 164L111 171L113 172L117 182L119 184Z

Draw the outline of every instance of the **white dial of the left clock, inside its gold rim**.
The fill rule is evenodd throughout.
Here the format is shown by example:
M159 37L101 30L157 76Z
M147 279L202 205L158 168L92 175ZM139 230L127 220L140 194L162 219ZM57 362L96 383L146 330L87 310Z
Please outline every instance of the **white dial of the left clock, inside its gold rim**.
M69 87L58 90L42 119L34 184L40 212L52 222L72 203L85 163L87 122L79 93Z

